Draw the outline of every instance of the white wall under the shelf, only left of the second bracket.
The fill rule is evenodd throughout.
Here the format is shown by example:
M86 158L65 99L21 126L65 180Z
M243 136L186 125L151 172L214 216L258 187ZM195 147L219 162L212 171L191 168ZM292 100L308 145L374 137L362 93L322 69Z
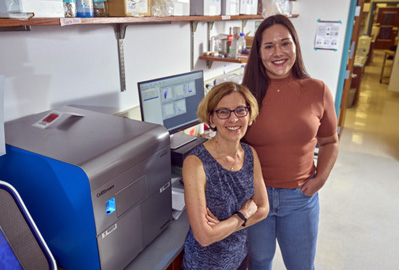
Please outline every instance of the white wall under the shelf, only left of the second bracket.
M113 25L32 28L0 33L6 121L65 104L125 110L138 105L137 81L190 69L189 24L128 26L123 93Z

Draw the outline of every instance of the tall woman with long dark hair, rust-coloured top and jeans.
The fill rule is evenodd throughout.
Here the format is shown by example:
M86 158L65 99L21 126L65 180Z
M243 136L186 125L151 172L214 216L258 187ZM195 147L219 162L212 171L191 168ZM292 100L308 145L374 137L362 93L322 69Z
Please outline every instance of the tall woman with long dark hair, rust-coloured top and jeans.
M259 25L243 84L260 107L245 142L259 154L270 202L268 217L248 232L250 269L272 269L277 240L287 269L312 270L317 192L337 158L337 119L330 90L307 74L297 33L285 16Z

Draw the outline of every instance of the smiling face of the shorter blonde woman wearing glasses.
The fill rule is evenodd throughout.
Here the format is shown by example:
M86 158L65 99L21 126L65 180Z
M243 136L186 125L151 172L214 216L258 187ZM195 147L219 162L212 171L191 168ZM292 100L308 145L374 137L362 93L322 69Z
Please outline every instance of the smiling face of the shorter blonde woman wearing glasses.
M235 110L240 107L246 107L245 98L238 92L233 92L224 96L217 104L216 110L228 109ZM217 129L216 136L228 141L238 142L244 137L248 128L249 113L244 117L237 117L234 112L231 112L227 119L219 119L216 112L210 115L211 127Z

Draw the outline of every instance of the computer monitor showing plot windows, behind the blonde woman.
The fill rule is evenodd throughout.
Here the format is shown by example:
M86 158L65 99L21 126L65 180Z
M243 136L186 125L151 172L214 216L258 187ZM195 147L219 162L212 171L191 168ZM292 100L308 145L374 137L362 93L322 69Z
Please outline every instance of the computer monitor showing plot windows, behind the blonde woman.
M202 70L139 82L138 89L142 121L163 125L171 134L199 124Z

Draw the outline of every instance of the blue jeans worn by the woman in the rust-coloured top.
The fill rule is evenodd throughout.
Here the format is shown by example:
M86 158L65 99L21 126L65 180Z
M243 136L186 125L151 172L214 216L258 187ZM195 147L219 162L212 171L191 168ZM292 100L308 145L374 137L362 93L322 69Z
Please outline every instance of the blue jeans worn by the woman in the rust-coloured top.
M248 228L249 269L272 269L276 239L288 270L313 270L319 223L319 196L298 189L267 187L270 212Z

